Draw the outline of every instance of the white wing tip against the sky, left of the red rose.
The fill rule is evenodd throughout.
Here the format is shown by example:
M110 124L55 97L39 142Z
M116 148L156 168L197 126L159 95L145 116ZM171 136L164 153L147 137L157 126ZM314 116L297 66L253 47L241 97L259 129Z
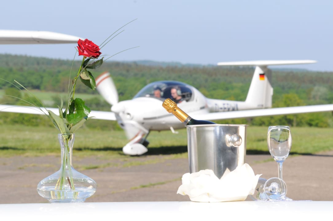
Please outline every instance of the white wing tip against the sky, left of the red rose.
M79 38L48 31L0 30L0 45L6 44L66 44L77 43Z

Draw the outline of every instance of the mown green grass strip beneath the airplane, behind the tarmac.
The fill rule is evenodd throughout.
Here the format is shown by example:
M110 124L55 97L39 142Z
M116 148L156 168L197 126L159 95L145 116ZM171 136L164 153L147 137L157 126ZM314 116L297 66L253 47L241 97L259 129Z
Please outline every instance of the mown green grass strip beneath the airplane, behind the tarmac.
M59 155L58 131L52 127L0 125L0 154L3 157L24 155ZM187 157L186 130L152 131L149 155ZM269 154L266 141L267 127L248 126L246 135L247 154ZM314 154L333 149L333 128L291 127L291 154ZM81 128L76 133L76 156L129 157L122 147L128 142L124 131L92 130Z

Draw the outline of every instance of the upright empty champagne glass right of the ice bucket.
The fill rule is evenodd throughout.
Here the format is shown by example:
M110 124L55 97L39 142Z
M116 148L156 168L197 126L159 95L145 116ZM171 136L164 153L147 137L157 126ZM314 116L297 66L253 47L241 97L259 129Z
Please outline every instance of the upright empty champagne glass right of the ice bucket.
M283 195L284 189L285 192L287 192L287 187L285 185L285 182L282 179L282 163L285 161L285 159L288 157L290 148L291 148L291 133L289 126L269 126L268 132L267 132L267 144L268 149L274 160L278 163L278 173L279 177L274 177L268 179L265 183L264 189L269 187L270 185L273 185L272 188L278 188L280 189L280 193L276 193L277 195L281 194ZM269 182L268 182L269 181ZM266 192L266 189L265 189ZM267 194L267 193L266 193ZM270 194L270 193L269 193ZM269 197L269 195L268 195ZM278 196L276 196L279 198ZM285 200L291 200L288 197L282 196ZM270 198L270 197L269 197Z

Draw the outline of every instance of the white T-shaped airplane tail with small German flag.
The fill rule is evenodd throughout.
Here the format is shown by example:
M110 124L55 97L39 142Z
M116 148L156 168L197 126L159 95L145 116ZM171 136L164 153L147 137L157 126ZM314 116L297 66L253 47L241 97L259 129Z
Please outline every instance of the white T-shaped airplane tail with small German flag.
M311 64L313 60L283 60L283 61L244 61L219 62L221 66L256 66L251 85L245 100L253 108L271 108L273 88L271 86L271 70L268 65Z

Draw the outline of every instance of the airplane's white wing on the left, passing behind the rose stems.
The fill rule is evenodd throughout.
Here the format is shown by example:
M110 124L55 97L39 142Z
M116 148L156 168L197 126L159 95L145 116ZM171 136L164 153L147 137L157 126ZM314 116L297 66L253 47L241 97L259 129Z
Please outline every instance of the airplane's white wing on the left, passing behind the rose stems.
M47 110L54 112L59 115L58 108L41 108L29 106L13 106L13 105L0 105L0 112L13 112L13 113L30 113L30 114L48 114ZM101 119L101 120L116 120L115 113L111 111L97 111L92 110L88 117L93 117L92 119Z

